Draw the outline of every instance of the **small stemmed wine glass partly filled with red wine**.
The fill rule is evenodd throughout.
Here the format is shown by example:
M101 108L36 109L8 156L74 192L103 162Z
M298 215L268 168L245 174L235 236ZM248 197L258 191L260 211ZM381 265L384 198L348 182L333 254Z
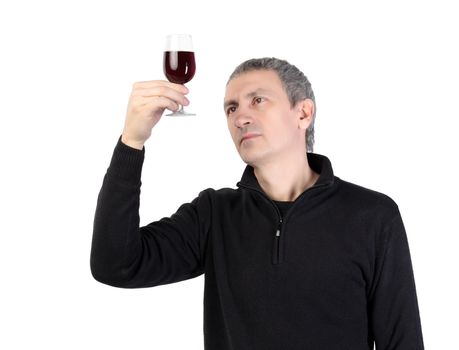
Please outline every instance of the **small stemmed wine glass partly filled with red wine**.
M171 83L185 84L189 82L195 73L196 62L194 60L193 42L189 34L170 34L166 37L166 47L163 59L164 74ZM168 116L196 115L180 109Z

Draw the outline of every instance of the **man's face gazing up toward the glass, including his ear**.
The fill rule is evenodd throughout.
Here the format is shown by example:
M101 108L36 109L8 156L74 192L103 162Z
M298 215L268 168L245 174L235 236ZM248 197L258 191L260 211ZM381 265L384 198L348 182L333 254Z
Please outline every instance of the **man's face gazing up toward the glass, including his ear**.
M225 94L228 129L242 160L252 166L285 159L292 152L306 154L305 130L312 101L291 108L276 72L255 70L232 79ZM309 109L308 109L309 108Z

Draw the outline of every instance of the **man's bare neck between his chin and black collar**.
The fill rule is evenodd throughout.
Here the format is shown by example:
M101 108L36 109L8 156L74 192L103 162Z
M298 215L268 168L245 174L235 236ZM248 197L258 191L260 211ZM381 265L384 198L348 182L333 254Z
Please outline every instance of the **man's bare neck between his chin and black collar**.
M319 178L306 155L289 157L280 162L254 166L255 177L263 191L275 201L294 201Z

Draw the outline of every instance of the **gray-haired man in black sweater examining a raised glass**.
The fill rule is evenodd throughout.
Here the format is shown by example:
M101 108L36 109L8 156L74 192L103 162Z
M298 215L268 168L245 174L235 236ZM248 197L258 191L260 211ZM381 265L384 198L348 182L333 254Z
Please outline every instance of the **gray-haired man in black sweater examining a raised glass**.
M134 85L98 198L94 278L137 288L204 273L208 350L423 349L398 207L312 153L314 94L286 61L246 61L227 83L228 128L247 163L238 188L206 189L139 228L144 143L186 94Z

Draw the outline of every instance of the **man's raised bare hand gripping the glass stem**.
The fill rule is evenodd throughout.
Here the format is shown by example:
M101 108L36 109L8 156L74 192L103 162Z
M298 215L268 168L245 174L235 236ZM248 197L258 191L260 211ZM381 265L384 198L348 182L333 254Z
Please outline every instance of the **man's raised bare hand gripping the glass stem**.
M132 88L121 141L133 148L142 149L151 136L151 130L161 119L164 110L179 109L188 105L184 85L165 80L137 82Z

